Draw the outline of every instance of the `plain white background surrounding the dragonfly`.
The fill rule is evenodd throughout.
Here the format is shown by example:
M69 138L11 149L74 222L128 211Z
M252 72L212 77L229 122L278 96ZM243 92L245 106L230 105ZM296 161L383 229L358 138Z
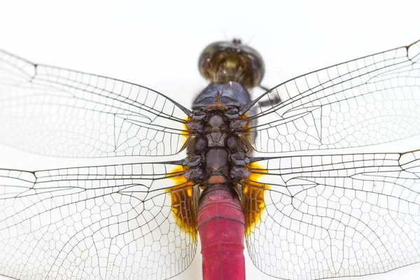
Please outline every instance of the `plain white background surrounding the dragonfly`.
M419 40L420 3L0 2L0 48L33 62L139 83L187 107L206 85L197 71L200 52L213 41L233 37L261 53L266 64L263 85L272 87L308 71ZM0 167L57 165L77 163L0 146ZM177 279L201 279L200 261L197 251L193 264ZM248 258L246 262L248 279L272 279ZM412 265L357 279L418 279L419 274L420 265Z

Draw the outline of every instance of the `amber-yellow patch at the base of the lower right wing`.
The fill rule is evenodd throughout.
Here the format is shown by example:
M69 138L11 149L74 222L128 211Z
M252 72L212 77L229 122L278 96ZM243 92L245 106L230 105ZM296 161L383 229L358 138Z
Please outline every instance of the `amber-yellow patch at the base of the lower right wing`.
M265 209L264 193L269 187L264 183L258 183L258 179L267 173L258 163L251 162L246 165L246 169L250 172L258 172L259 174L251 173L248 179L241 181L242 194L244 195L242 205L245 214L245 235L248 237L255 226L261 221L262 211Z

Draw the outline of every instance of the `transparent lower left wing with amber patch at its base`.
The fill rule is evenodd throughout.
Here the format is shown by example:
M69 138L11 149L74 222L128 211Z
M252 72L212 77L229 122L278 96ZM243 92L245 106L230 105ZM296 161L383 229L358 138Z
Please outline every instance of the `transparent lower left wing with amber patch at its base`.
M189 191L172 170L179 167L0 169L0 274L22 280L179 274L194 258L197 235L179 226L195 223L195 214L172 211L172 196Z

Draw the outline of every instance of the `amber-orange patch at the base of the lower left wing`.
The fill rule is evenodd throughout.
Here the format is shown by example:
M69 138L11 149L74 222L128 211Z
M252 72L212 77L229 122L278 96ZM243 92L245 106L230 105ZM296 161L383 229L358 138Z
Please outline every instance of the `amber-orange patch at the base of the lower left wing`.
M171 209L176 220L176 225L196 241L197 221L193 200L193 183L187 181L183 176L183 172L186 170L188 168L181 165L172 170L172 174L169 176L173 176L171 180L174 181L174 186L167 188L165 192L171 198ZM179 173L179 175L176 176L176 173Z

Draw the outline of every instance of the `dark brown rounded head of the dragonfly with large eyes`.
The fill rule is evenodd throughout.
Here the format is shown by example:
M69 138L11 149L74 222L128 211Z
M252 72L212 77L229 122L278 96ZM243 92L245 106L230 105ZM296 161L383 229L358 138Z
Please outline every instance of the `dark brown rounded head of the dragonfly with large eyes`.
M260 54L238 39L207 45L198 67L211 83L236 82L246 88L259 85L265 69Z

